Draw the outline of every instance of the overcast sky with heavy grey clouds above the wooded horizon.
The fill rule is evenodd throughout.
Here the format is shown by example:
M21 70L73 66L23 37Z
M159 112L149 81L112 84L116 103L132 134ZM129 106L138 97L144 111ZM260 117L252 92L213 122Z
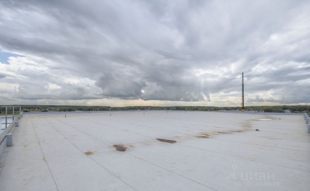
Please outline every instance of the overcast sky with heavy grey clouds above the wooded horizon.
M0 1L0 104L310 104L309 1Z

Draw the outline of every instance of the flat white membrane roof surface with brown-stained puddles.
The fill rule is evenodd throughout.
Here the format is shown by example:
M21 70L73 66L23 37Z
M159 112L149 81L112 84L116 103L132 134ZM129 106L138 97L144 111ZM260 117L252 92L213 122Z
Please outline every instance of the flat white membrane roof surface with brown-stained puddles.
M303 115L140 111L19 121L0 174L3 191L310 187Z

